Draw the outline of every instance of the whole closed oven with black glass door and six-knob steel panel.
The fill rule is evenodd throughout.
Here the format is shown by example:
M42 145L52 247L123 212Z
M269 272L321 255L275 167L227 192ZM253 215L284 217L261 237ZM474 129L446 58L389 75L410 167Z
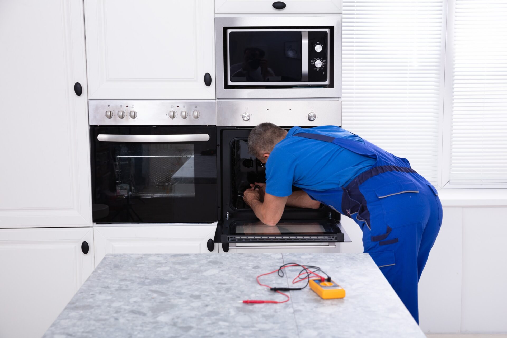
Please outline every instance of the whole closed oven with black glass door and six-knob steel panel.
M215 102L90 101L93 220L216 221Z

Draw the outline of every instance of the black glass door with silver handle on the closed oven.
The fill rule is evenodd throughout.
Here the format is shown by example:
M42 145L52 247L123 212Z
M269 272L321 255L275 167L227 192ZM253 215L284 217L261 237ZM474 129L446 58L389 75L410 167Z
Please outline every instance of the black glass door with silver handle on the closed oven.
M215 129L91 127L94 221L216 220Z

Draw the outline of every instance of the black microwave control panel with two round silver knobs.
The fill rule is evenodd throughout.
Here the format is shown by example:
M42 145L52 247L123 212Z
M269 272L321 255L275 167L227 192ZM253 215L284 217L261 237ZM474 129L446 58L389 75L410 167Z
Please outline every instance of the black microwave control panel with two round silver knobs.
M329 76L329 30L308 30L308 82L326 82Z

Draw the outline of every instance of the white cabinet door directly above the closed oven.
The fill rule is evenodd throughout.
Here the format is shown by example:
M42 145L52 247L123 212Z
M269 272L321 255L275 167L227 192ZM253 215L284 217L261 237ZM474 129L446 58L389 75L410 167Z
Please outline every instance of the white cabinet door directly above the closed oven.
M213 99L211 0L85 0L90 99Z

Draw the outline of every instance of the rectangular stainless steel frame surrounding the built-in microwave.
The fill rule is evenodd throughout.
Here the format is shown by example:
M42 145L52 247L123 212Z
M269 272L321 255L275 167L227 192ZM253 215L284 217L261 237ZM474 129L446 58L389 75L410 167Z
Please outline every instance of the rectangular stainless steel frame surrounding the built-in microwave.
M334 40L330 45L334 46L333 63L334 88L247 88L247 89L225 89L228 85L224 76L224 67L229 67L228 62L224 64L224 50L227 49L227 34L224 39L224 28L230 27L311 27L311 26L334 26ZM227 29L227 28L226 28ZM318 28L317 28L318 30ZM329 37L330 39L330 37ZM226 45L224 45L226 43ZM329 46L330 46L329 45ZM227 59L227 55L225 56ZM329 57L328 57L329 59ZM216 98L218 99L255 99L255 98L330 98L341 97L341 70L342 70L342 15L332 16L216 16L215 17L215 74L216 74ZM331 74L329 74L331 77ZM228 76L227 76L228 78ZM225 80L225 82L224 82ZM270 83L271 85L273 83ZM322 83L311 83L319 85ZM249 84L251 85L251 84ZM303 85L303 83L299 83Z

